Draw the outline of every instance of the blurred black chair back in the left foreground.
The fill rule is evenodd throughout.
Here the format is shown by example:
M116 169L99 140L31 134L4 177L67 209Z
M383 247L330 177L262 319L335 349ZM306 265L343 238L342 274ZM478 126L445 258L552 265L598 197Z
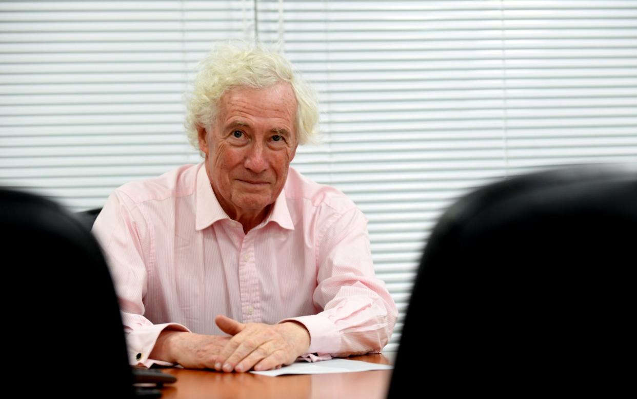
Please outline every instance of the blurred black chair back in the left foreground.
M113 282L90 231L56 203L7 189L0 226L4 359L29 396L132 397Z

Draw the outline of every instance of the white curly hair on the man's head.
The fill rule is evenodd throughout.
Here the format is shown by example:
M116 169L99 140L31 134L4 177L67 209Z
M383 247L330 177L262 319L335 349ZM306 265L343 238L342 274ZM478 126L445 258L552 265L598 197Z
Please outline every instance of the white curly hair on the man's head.
M241 86L262 89L280 82L290 83L296 96L299 144L318 142L317 94L283 55L261 44L224 41L215 44L197 69L192 93L187 96L184 124L188 140L196 149L199 130L213 126L218 101L225 91Z

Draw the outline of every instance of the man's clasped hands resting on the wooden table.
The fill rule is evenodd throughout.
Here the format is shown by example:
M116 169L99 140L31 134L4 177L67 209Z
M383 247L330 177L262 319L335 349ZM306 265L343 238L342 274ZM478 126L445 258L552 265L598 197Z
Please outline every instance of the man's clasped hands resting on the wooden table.
M164 330L150 358L185 368L262 371L290 365L310 347L310 333L300 323L244 324L225 316L217 316L215 323L232 337Z

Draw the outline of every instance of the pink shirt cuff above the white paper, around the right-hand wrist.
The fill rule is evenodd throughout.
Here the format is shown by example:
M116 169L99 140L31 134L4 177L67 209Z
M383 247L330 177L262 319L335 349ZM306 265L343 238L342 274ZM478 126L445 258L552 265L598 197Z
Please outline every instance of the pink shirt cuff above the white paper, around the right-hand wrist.
M290 317L289 319L283 319L279 323L285 323L286 321L296 321L303 324L310 333L310 347L308 348L308 354L303 355L303 358L309 356L315 356L317 359L311 361L325 360L324 356L329 356L330 353L338 353L341 349L341 334L336 328L336 325L329 319L322 317L318 314L311 316L299 316ZM317 354L313 355L313 354ZM331 359L331 356L327 359Z

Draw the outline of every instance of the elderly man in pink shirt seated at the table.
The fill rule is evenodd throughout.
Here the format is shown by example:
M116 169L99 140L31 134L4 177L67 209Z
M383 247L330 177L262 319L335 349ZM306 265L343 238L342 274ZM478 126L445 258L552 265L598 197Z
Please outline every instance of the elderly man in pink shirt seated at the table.
M226 43L201 62L186 125L204 162L118 188L93 229L132 364L245 372L387 344L396 305L364 215L290 168L317 119L275 52Z

